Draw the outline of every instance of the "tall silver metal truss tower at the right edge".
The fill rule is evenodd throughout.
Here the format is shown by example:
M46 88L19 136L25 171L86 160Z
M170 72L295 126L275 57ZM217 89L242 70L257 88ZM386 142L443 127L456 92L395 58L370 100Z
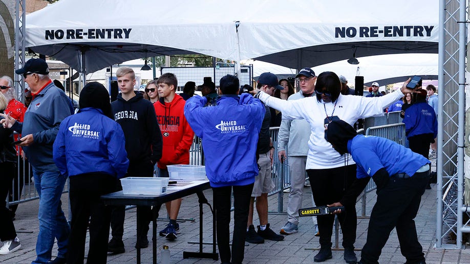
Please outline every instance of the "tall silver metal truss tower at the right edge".
M439 1L436 247L462 249L467 1ZM466 221L464 223L464 215Z

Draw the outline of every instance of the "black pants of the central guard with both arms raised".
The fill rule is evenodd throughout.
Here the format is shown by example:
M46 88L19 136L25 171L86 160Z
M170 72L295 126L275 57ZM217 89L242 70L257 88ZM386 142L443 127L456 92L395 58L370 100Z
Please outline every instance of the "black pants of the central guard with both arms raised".
M230 254L230 207L233 188L233 240ZM217 212L217 245L221 262L242 263L245 256L246 224L253 184L212 188ZM231 261L230 261L231 256Z

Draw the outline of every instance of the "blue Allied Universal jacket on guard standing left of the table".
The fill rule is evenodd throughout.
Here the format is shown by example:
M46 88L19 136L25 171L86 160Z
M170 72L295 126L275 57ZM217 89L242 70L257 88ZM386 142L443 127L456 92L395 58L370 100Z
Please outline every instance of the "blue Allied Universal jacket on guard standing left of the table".
M121 126L100 109L83 108L60 124L54 142L54 162L69 177L100 172L117 179L129 166Z

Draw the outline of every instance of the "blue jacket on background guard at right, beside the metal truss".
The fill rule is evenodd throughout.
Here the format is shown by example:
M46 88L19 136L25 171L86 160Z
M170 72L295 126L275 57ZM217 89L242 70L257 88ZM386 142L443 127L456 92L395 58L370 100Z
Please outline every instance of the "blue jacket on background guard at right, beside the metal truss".
M433 107L425 101L416 102L405 111L403 123L407 138L422 134L433 134L437 137L437 118Z

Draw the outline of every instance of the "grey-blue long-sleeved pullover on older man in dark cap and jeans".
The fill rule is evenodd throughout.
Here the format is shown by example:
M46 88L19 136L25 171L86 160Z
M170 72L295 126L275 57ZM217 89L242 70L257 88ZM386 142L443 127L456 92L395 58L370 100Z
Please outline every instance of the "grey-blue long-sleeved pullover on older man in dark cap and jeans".
M24 122L15 122L11 127L23 136L33 135L34 143L23 150L35 170L58 171L52 158L52 144L60 122L70 114L70 99L51 82L33 97Z

